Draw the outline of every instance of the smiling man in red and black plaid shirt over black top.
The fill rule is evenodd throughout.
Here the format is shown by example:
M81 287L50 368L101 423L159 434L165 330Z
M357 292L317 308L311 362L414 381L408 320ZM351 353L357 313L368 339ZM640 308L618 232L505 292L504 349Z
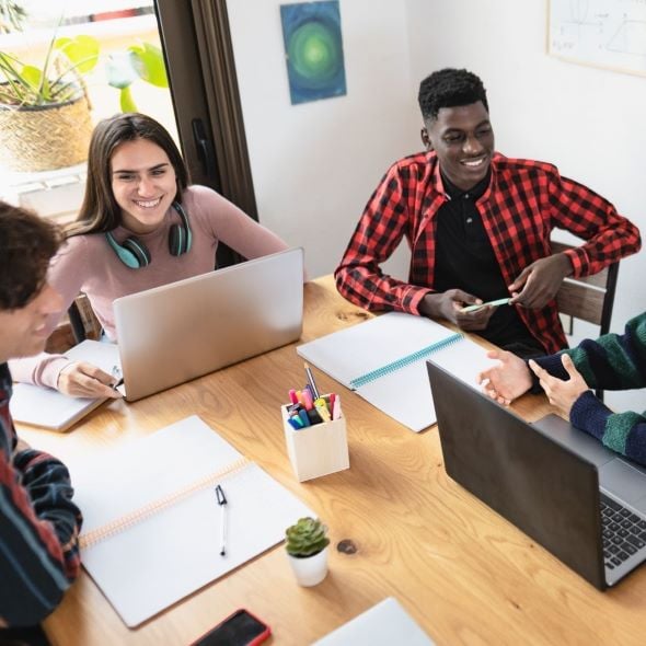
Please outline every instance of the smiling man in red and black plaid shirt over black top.
M554 300L563 278L637 252L638 229L554 165L495 152L475 74L434 72L419 105L426 152L394 163L372 194L335 272L338 291L372 311L446 319L524 357L566 347ZM586 243L552 254L554 228ZM403 237L407 282L380 269Z

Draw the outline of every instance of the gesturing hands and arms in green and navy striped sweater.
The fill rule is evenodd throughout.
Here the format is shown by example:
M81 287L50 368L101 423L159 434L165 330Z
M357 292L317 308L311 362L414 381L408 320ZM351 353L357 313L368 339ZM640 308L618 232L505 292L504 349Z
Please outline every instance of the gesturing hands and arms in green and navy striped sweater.
M529 367L511 353L492 350L488 356L499 364L481 372L478 382L491 397L508 405L538 380L573 426L646 464L646 412L613 413L590 390L646 387L646 312L631 319L624 334L586 339L575 348L532 359Z

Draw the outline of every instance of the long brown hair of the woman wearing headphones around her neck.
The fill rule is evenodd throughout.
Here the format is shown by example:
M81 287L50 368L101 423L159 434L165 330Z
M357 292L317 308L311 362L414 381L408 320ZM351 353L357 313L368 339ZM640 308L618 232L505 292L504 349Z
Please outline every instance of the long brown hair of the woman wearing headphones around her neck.
M66 227L68 238L105 233L122 223L122 209L112 191L112 155L118 146L136 139L148 139L169 155L177 184L175 200L182 201L182 191L189 182L188 171L169 131L147 115L118 114L99 122L92 132L83 204L76 221Z

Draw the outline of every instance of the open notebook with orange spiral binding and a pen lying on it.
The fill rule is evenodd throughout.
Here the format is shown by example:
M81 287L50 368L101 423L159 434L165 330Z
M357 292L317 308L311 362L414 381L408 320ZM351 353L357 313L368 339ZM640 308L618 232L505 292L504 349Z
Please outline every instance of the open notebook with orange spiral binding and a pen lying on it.
M197 416L69 466L84 517L81 561L130 627L313 516ZM223 512L217 485L227 497Z

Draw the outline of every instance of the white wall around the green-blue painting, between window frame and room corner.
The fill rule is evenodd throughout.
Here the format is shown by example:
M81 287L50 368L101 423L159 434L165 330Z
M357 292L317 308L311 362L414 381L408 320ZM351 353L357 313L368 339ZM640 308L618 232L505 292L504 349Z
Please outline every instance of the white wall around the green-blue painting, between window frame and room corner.
M291 105L281 3L228 11L259 219L305 249L315 277L338 264L388 166L420 148L420 123L403 4L342 0L347 95Z

